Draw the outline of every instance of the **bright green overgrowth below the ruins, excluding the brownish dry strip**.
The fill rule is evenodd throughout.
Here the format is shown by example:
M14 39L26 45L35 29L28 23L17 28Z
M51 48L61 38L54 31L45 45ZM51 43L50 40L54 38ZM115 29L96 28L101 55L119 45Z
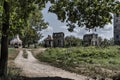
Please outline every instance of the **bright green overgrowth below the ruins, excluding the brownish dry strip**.
M119 46L101 47L72 47L50 48L42 54L38 54L40 61L49 62L53 65L64 67L76 67L81 64L95 64L108 66L120 65ZM113 59L110 61L110 59Z

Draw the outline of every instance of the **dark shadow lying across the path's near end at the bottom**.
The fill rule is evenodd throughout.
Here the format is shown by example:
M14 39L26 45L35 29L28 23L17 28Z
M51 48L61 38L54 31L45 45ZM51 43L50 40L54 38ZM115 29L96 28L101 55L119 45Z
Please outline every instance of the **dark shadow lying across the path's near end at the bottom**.
M61 77L34 77L34 78L27 78L23 77L24 80L73 80L68 78L61 78Z

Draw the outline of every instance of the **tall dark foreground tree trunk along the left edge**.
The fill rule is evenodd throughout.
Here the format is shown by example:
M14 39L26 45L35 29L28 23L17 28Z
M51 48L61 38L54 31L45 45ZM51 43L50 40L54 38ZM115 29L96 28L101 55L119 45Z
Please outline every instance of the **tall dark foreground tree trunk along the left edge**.
M7 80L8 61L8 29L9 29L9 3L4 0L4 13L2 23L1 55L0 55L0 80Z

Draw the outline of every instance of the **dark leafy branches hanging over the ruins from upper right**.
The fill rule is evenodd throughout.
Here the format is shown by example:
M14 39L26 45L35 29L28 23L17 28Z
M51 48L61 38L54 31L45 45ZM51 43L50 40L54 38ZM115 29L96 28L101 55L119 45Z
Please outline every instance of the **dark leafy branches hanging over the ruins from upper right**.
M50 12L55 13L62 22L67 22L69 31L75 26L93 29L103 28L111 22L111 13L120 14L117 0L51 0Z

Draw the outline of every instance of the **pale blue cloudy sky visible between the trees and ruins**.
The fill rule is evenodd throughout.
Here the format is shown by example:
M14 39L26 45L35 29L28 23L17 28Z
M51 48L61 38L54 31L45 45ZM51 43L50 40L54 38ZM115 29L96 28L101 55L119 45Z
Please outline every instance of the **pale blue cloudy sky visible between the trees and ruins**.
M44 37L41 39L41 41L44 38L46 38L48 35L52 35L52 33L54 33L54 32L64 32L65 36L73 35L80 39L83 38L84 34L89 34L89 33L97 33L102 38L107 38L107 39L110 39L113 37L113 24L108 24L102 29L97 29L96 32L95 31L89 32L88 30L85 30L85 28L80 28L80 27L75 28L75 30L73 32L69 32L67 30L66 24L60 22L57 19L56 14L48 12L49 6L50 6L50 3L48 3L46 5L46 8L44 8L42 10L43 18L46 22L49 23L49 26L47 29L42 30L42 34Z

